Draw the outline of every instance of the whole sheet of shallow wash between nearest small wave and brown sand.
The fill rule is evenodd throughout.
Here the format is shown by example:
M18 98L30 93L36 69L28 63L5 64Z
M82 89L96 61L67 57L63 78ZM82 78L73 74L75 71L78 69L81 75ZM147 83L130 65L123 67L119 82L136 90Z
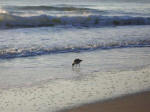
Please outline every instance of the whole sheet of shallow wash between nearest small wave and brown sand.
M58 54L55 57L52 55L34 57L32 63L39 64L36 64L37 69L32 64L24 67L25 64L20 63L29 63L31 59L11 60L9 64L14 65L13 71L24 73L25 77L20 77L18 81L15 75L19 74L14 74L11 69L8 69L12 72L7 77L9 82L6 83L6 79L3 79L1 86L5 87L9 83L13 87L1 88L0 111L54 112L71 106L149 90L150 55L148 52L149 48L127 48L70 53L67 56ZM80 56L84 61L80 68L72 69L70 63L76 56ZM54 59L55 62L57 60L57 64L53 62ZM6 66L8 62L2 63L9 68ZM3 66L3 70L5 67ZM30 68L34 72L31 72ZM31 73L30 76L28 73ZM51 77L53 80L49 79L42 83L36 80L37 77L38 79ZM34 85L25 86L27 81ZM18 84L24 87L14 88Z

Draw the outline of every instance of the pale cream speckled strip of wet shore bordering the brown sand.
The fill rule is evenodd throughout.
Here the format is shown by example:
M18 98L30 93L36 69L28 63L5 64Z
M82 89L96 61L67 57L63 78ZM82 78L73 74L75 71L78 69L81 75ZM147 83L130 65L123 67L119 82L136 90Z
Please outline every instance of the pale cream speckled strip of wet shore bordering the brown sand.
M80 69L75 72L80 73ZM79 80L58 79L0 91L1 112L53 112L69 106L150 88L150 70L95 72Z

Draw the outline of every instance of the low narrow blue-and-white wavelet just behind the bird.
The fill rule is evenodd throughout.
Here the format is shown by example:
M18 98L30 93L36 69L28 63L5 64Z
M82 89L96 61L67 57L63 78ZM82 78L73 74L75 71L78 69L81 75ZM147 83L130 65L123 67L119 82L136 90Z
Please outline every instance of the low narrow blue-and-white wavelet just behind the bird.
M55 47L4 48L0 50L0 59L29 57L54 53L82 52L96 49L114 49L126 47L150 47L150 40L92 43L85 45L65 45Z

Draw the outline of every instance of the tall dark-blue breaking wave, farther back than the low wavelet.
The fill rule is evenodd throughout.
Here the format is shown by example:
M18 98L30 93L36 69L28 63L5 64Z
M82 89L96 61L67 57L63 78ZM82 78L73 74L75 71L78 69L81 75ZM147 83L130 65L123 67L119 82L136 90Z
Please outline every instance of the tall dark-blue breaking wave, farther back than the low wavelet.
M81 27L100 27L110 25L150 25L150 17L129 16L31 16L20 17L10 14L0 15L0 28L44 27L69 25Z

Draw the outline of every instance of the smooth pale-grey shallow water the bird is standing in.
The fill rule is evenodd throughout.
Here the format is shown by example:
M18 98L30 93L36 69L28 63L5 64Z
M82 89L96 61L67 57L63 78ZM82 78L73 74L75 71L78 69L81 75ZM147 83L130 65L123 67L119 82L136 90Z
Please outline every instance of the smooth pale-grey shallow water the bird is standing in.
M12 88L55 79L74 79L94 72L141 69L150 65L149 51L149 47L122 48L0 60L0 87ZM72 68L75 58L81 58L83 62L80 67Z

